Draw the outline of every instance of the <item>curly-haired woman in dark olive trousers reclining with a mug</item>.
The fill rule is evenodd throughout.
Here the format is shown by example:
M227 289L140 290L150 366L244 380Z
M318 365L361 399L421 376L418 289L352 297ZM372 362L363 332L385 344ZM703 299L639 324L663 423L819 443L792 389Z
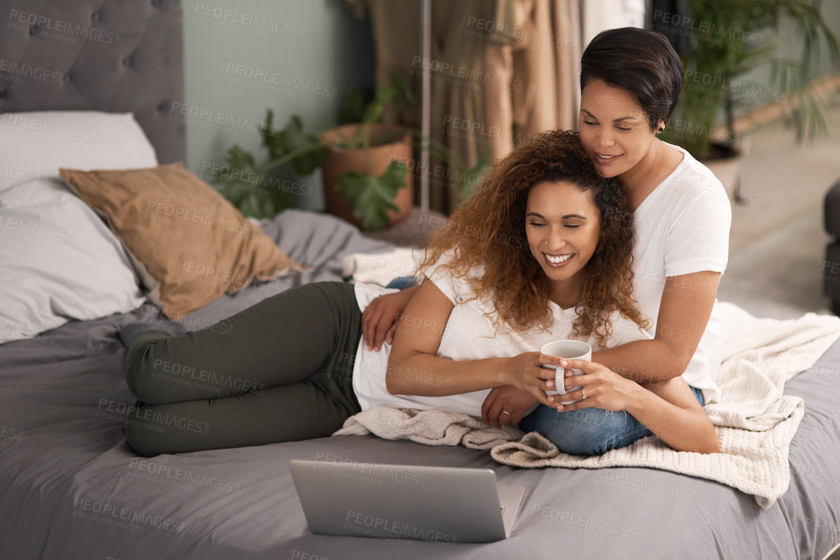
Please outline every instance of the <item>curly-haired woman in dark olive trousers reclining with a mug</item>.
M127 422L129 444L150 456L324 437L377 405L480 416L501 386L562 409L543 393L554 369L542 365L567 364L541 354L544 343L649 338L633 305L632 247L621 186L596 173L577 134L545 133L503 160L433 238L391 348L366 348L361 316L392 290L360 283L286 290L223 332L140 333L126 359L142 420ZM627 423L675 449L717 451L682 379L643 385L577 365L585 374L564 385L583 389L564 398L583 400L569 408L618 411L617 423L573 430L558 442L564 451L585 452L593 438L626 445ZM154 429L160 422L182 429Z

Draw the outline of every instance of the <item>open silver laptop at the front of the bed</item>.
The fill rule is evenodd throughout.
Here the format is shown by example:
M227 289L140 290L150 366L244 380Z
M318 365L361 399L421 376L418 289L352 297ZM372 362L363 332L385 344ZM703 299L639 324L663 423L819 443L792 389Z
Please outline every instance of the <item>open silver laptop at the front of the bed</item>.
M289 461L310 531L454 546L510 536L524 486L490 468Z

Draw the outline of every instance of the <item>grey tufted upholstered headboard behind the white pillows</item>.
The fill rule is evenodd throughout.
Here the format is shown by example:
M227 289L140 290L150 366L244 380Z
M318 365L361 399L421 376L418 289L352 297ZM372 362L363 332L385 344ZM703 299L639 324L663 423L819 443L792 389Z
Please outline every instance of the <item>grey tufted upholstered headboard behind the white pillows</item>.
M161 164L184 160L183 66L180 0L0 0L3 113L134 113Z

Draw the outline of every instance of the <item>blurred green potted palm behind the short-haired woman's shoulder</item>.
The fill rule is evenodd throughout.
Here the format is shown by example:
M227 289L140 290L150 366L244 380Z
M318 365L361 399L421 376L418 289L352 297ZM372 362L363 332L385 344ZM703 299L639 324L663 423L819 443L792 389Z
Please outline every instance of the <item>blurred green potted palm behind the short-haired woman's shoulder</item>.
M755 98L783 102L795 124L796 139L813 138L825 130L825 119L811 86L821 39L837 64L837 39L816 3L802 0L745 2L689 0L694 49L683 57L685 84L661 138L680 144L717 175L727 191L738 184L740 164L748 144L732 129L733 109ZM803 55L790 60L775 54L764 32L779 32L790 21L801 31ZM694 23L701 22L695 25ZM748 71L769 65L769 83L738 81ZM721 114L722 127L716 128ZM738 191L735 191L738 199Z

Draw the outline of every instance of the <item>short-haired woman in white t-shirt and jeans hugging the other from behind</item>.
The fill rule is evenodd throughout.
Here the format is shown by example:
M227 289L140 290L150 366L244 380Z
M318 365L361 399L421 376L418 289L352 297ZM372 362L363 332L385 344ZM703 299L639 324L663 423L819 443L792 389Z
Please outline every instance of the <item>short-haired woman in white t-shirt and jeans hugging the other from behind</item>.
M682 86L680 57L663 34L649 29L607 29L591 40L580 60L580 140L598 175L621 184L633 212L628 219L636 229L634 295L651 335L598 348L592 360L638 382L664 384L681 377L701 404L708 404L720 398L715 379L723 339L715 301L727 266L732 211L727 192L705 165L656 137L669 122ZM694 129L697 123L677 120L674 128ZM391 342L395 318L416 291L381 296L365 309L362 324L370 348ZM537 401L512 385L495 387L484 419L509 426ZM570 407L558 414L554 408L538 406L520 427L559 441L569 437L570 426L614 416L597 409L570 414ZM622 441L642 430L629 423L627 429ZM594 445L590 451L604 449Z

